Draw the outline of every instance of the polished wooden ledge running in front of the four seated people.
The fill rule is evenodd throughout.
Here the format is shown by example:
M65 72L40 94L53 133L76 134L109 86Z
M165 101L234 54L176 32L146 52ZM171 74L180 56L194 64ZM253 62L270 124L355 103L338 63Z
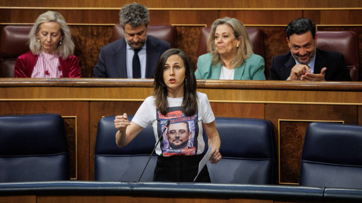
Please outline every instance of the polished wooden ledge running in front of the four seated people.
M0 78L0 87L152 87L153 79ZM362 91L361 82L255 81L198 79L197 88L245 90ZM21 95L20 95L21 96ZM34 95L34 97L37 97ZM318 99L319 100L319 99ZM359 101L359 100L357 100Z

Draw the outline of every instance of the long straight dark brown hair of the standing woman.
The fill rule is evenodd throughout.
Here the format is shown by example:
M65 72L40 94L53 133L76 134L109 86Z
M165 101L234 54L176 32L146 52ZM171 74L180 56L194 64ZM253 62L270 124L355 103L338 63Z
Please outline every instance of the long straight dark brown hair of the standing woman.
M168 109L167 86L163 81L163 70L168 57L177 54L184 61L185 80L184 80L184 100L182 100L182 111L186 116L193 116L197 112L197 94L196 94L196 78L189 58L186 53L180 49L168 49L157 62L153 81L153 96L155 96L156 108L163 115L166 115Z

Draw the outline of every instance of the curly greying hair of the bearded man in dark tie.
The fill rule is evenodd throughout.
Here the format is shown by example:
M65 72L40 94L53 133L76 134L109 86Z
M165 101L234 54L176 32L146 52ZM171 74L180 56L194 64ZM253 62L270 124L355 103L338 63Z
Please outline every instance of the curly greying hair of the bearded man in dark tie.
M127 23L132 27L138 27L144 23L147 27L149 21L150 12L142 4L136 2L133 4L126 4L119 11L119 22L123 28L125 28Z

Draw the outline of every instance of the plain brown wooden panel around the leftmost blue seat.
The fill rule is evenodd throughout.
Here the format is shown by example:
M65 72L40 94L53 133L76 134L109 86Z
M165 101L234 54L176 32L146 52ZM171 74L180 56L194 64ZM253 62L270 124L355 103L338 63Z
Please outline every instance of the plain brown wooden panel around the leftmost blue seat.
M89 180L89 133L88 133L88 102L0 102L0 115L36 114L36 113L58 113L65 118L65 126L68 143L70 145L70 172L71 178L77 180ZM77 123L75 118L77 117ZM75 125L77 148L75 149ZM76 150L76 151L75 151ZM77 156L76 156L77 154ZM77 161L77 165L75 164ZM76 171L75 171L76 170ZM77 176L76 176L77 175Z

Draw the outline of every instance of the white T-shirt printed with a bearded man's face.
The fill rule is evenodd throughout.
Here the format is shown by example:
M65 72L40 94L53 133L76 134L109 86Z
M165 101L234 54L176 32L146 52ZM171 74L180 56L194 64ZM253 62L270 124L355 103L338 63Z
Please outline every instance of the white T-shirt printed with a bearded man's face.
M167 129L163 134L160 143L156 147L157 155L188 156L202 154L205 148L205 142L202 138L202 123L210 123L215 120L215 117L214 113L212 112L209 100L207 99L207 95L201 92L197 92L197 97L198 111L191 117L185 116L181 111L181 104L182 100L184 99L183 97L167 98L169 106L167 115L162 115L158 109L156 109L154 96L146 98L146 100L144 100L142 105L139 107L132 121L140 125L142 128L147 128L147 126L151 124L156 141L158 139L158 135L161 134L167 120L170 120L169 129L172 128L172 124L188 122L187 125L189 129L187 130L189 133L191 133L191 136L187 141L187 146L184 148L170 147L170 142L167 139L167 133L169 129Z

